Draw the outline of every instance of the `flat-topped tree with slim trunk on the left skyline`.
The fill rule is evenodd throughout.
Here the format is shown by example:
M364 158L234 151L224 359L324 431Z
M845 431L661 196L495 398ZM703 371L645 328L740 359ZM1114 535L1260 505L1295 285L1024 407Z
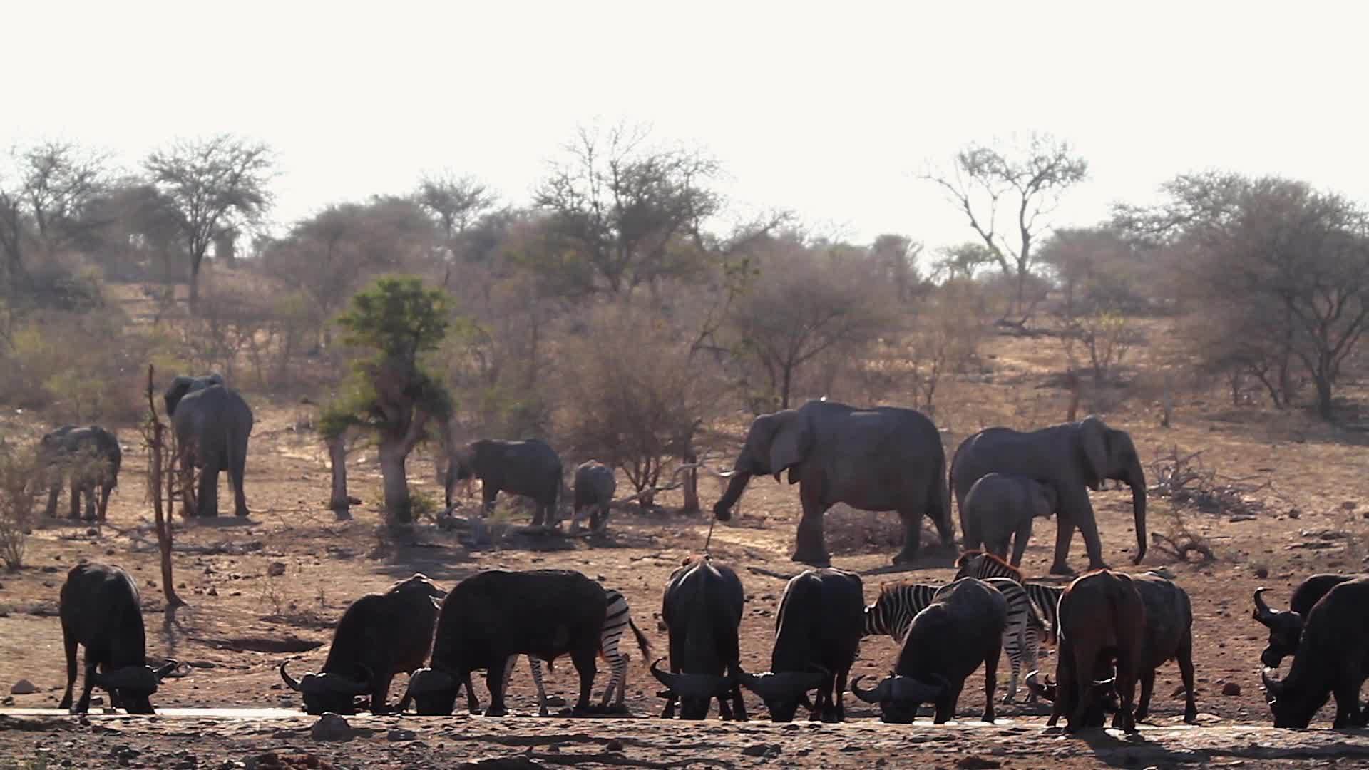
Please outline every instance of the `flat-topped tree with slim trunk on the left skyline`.
M215 238L242 229L271 203L271 151L229 134L186 140L148 155L148 178L172 206L190 260L190 312L200 299L200 266Z

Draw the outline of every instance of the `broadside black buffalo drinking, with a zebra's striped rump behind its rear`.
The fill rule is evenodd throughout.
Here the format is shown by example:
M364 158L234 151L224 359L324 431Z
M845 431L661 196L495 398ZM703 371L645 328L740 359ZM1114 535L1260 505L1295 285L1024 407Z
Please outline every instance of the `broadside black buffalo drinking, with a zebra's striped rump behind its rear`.
M465 685L474 712L479 704L470 692L471 671L483 669L490 691L485 714L502 717L512 656L552 662L570 655L580 675L575 711L589 712L606 610L604 589L574 570L487 570L468 577L442 600L433 660L409 678L400 708L412 699L419 714L450 714Z

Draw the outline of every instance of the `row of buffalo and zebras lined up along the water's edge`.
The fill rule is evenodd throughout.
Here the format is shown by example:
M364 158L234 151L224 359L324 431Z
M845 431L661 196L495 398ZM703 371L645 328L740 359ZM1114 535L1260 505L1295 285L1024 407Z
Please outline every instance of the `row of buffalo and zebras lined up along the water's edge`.
M1013 674L1003 701L1016 693L1020 658L1027 651L1032 695L1053 703L1047 725L1065 718L1066 732L1103 726L1134 730L1150 712L1155 670L1179 665L1184 721L1195 723L1192 607L1183 588L1153 571L1094 570L1068 586L1024 581L993 554L972 551L957 560L946 585L901 581L880 586L865 604L856 573L821 567L793 577L775 621L771 670L741 667L739 629L745 591L727 564L691 556L669 577L661 599L668 633L669 670L650 666L664 685L663 718L679 708L682 719L704 719L713 700L724 719L746 719L742 689L764 701L772 721L789 722L798 707L810 719L841 722L847 686L879 704L884 722L908 723L923 704L936 723L956 717L965 681L984 674L982 719L993 722L998 660L1005 647ZM1369 675L1369 577L1313 575L1294 593L1291 608L1275 611L1255 592L1254 618L1269 628L1264 684L1275 726L1306 728L1331 696L1333 726L1364 726L1359 688ZM62 634L67 686L60 707L85 712L92 688L130 714L152 714L151 696L179 665L146 663L137 584L115 566L81 563L62 586ZM520 655L530 662L538 712L549 712L539 660L568 656L579 674L572 714L624 711L628 656L620 649L631 630L643 656L650 641L637 628L623 595L574 570L487 570L444 592L423 574L396 582L385 593L353 601L333 633L318 673L298 678L279 666L309 714L405 712L449 715L464 688L467 708L481 712L471 674L485 671L490 703L485 714L505 715L505 692ZM865 636L888 634L901 643L888 675L861 688L850 669ZM1057 644L1055 680L1035 670L1036 644ZM85 681L73 707L77 648L85 647ZM1292 655L1288 675L1273 666ZM602 700L590 703L597 659L611 669ZM398 704L387 706L396 674L408 674ZM1139 699L1136 684L1140 684ZM812 693L812 697L809 697ZM616 701L613 696L616 695ZM357 701L359 696L368 696ZM612 701L612 704L611 704Z

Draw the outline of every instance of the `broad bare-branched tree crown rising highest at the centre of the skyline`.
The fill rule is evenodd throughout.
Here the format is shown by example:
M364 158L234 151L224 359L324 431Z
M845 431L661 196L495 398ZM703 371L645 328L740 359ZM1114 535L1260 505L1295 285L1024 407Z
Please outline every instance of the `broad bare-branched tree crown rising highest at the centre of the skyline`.
M567 160L533 193L550 214L554 243L587 263L612 295L700 274L701 223L721 208L706 186L719 174L716 160L650 148L646 138L643 130L582 129L565 147Z

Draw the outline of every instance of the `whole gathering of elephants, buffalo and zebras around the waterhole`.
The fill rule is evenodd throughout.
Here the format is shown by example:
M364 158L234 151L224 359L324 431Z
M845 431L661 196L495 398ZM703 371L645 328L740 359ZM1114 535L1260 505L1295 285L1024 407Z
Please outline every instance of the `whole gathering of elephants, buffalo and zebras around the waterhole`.
M242 490L252 411L222 377L178 377L166 396L185 462L201 470L194 501L200 515L216 515L218 474L230 474L238 515L246 515ZM118 441L97 426L64 426L44 438L52 458L86 454L96 462L71 471L71 517L78 497L86 517L103 518L116 485ZM502 492L537 503L535 525L559 523L561 460L542 441L479 440L450 452L448 506L457 481L481 478L485 508ZM1146 552L1146 480L1131 437L1090 417L1035 432L990 427L968 437L947 464L936 426L921 412L897 407L857 408L826 399L757 417L746 436L723 497L713 508L726 521L753 475L787 473L799 485L804 514L794 560L815 564L789 581L779 604L771 670L746 673L738 633L745 592L737 573L709 556L687 559L665 586L661 619L669 634L669 670L660 660L652 674L665 686L663 717L679 707L683 719L702 719L712 701L723 718L746 718L742 689L758 695L775 721L790 721L799 706L809 717L845 719L847 685L878 703L887 722L910 722L923 704L934 719L954 717L964 682L983 666L983 719L994 719L997 669L1006 651L1010 677L1005 701L1017 693L1027 670L1029 700L1053 701L1050 723L1065 717L1066 730L1112 725L1134 729L1150 708L1155 669L1179 665L1184 719L1195 722L1192 607L1187 593L1155 573L1125 574L1102 559L1088 489L1108 480L1127 484L1135 512L1136 556ZM60 477L59 477L60 481ZM99 506L94 488L100 488ZM575 517L591 511L602 529L613 493L612 470L587 462L575 473ZM55 512L52 486L48 512ZM871 511L898 511L905 525L895 563L913 559L921 518L935 523L953 545L950 499L960 508L965 551L956 580L946 585L894 582L865 606L861 578L827 567L823 514L835 503ZM1019 571L1031 522L1054 514L1055 556L1050 571L1073 574L1065 563L1073 530L1083 534L1090 570L1068 586L1024 581ZM1009 543L1013 554L1008 556ZM987 551L979 551L980 545ZM1364 725L1358 693L1369 677L1369 577L1313 575L1294 593L1291 608L1276 612L1255 592L1254 617L1270 629L1264 685L1276 726L1305 728L1333 695L1335 726ZM62 588L62 628L71 707L77 645L86 648L85 688L77 711L89 707L92 686L111 693L114 706L151 712L149 696L177 669L170 660L145 660L142 617L136 584L112 566L82 563ZM422 574L386 593L357 599L340 619L327 660L318 673L281 677L301 693L311 714L353 712L357 696L370 696L372 712L450 714L461 689L479 711L471 674L485 671L487 715L502 715L505 688L519 655L526 655L538 689L539 714L548 697L539 660L570 656L579 674L575 712L623 707L626 630L643 655L650 644L631 619L623 595L570 570L490 570L442 592ZM849 682L860 640L888 634L901 644L893 671L876 686ZM1036 671L1040 643L1058 647L1055 680ZM1273 667L1292 655L1284 680ZM590 704L596 660L611 667L598 707ZM426 665L424 665L426 663ZM404 696L386 706L396 674L408 674ZM1139 700L1136 684L1140 684ZM809 699L813 692L813 699Z

